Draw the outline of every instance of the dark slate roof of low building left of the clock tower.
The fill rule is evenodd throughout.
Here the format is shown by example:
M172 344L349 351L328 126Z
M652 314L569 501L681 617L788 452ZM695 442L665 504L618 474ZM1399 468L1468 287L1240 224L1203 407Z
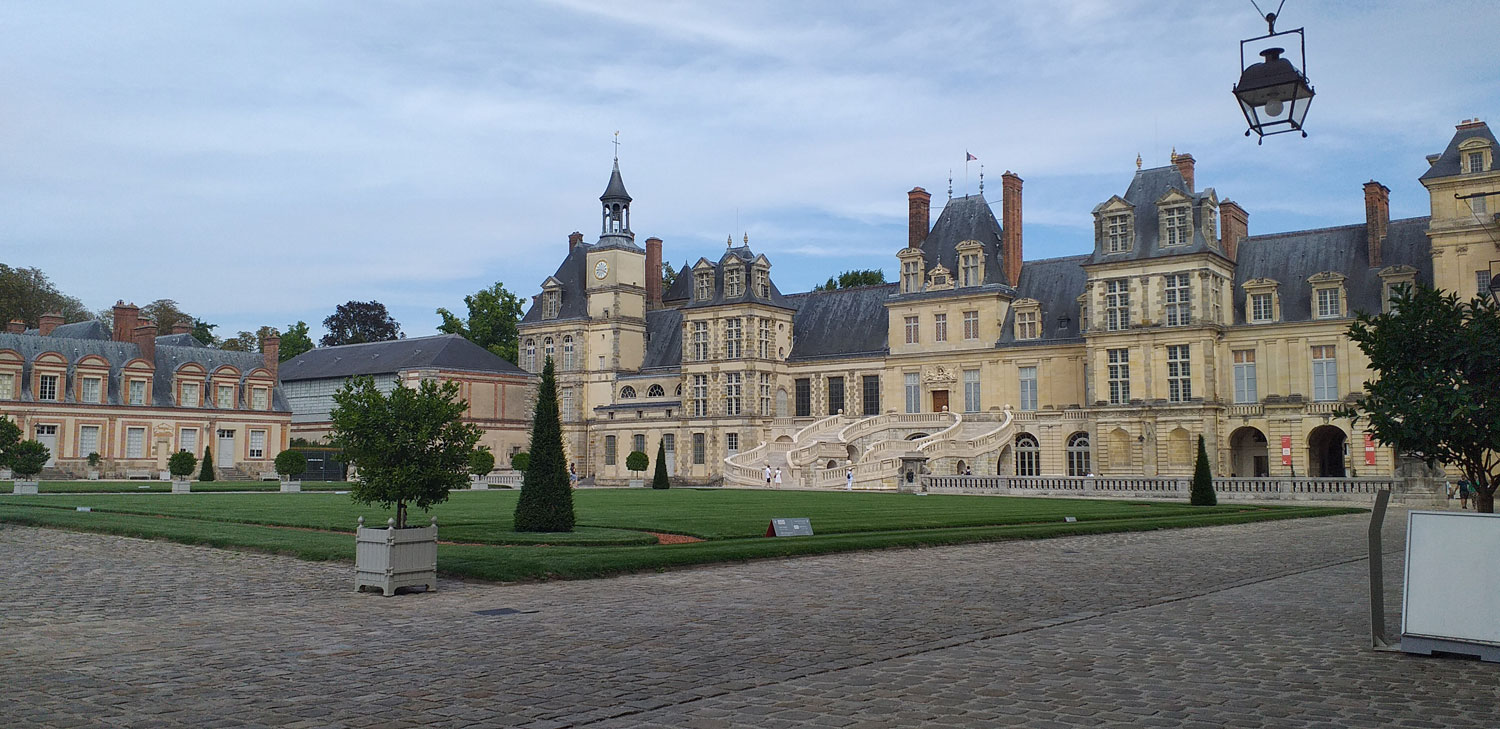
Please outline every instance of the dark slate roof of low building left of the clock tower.
M318 346L280 366L280 381L384 375L410 369L446 369L534 376L459 334L418 336L390 342Z

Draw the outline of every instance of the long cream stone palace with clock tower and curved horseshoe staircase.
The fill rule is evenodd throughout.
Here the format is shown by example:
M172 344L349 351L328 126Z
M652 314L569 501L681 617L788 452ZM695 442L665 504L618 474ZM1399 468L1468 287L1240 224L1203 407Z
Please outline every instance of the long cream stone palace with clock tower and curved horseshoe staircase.
M1428 158L1431 216L1250 236L1250 212L1197 184L1194 158L1137 170L1095 201L1092 250L1023 258L1022 178L908 192L896 284L786 294L729 242L663 286L663 242L636 244L620 162L594 243L568 237L520 322L520 366L558 374L580 474L618 483L666 447L688 483L896 488L936 474L1386 476L1390 448L1338 417L1366 380L1356 312L1416 282L1488 294L1500 273L1496 138L1458 124ZM1354 190L1350 190L1353 196ZM1082 202L1082 201L1080 201Z

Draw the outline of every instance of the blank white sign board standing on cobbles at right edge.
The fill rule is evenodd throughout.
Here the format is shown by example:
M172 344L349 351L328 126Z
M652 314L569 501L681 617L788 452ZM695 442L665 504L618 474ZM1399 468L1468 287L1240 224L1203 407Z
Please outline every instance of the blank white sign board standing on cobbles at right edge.
M1500 514L1408 512L1401 633L1500 645Z

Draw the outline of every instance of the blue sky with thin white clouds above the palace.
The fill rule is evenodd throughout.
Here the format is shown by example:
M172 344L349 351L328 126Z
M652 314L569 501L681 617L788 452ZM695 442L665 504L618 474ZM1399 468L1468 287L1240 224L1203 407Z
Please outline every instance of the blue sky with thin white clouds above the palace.
M1173 147L1252 234L1360 222L1371 178L1425 214L1424 156L1500 122L1474 30L1500 3L1290 0L1298 26L1311 136L1256 146L1228 93L1248 0L9 3L0 261L220 333L375 298L426 334L597 236L615 130L638 240L681 262L748 232L783 291L892 276L906 190L936 207L952 170L962 195L966 150L992 201L1026 180L1026 258L1086 252L1089 210Z

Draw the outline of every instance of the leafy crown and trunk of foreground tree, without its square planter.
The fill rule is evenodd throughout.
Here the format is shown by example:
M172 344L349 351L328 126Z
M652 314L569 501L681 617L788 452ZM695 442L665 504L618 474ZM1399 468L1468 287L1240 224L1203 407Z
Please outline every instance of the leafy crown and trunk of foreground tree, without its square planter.
M464 423L468 404L458 382L424 380L398 384L390 394L370 376L356 376L333 393L332 441L345 462L358 466L350 496L360 504L396 507L396 528L406 526L406 504L428 510L468 483L468 464L480 429Z

